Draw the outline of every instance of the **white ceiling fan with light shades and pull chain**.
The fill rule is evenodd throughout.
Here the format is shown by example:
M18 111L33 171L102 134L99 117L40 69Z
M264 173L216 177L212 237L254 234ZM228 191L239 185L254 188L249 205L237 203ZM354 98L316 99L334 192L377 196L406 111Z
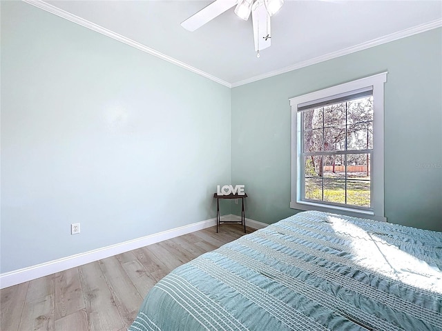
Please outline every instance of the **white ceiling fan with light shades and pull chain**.
M182 22L181 26L186 30L195 31L223 12L236 6L235 14L244 21L249 19L251 13L255 51L258 52L256 56L260 57L260 50L270 46L270 17L276 14L283 4L284 0L215 0L209 6L202 8L202 10Z

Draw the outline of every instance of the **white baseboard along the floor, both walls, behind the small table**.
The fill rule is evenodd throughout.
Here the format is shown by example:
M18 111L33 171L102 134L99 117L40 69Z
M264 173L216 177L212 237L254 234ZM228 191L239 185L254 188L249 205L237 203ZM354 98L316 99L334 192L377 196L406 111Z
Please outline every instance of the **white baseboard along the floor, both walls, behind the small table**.
M232 214L222 216L221 221L222 219L236 218L241 221L240 217ZM246 219L246 224L247 226L256 229L264 228L265 226L267 226L267 224L265 223L253 221L252 219ZM124 241L123 243L117 243L115 245L99 248L97 250L90 250L89 252L71 255L70 257L64 257L62 259L32 265L27 268L5 272L3 274L0 274L0 288L8 288L9 286L17 285L25 281L31 281L32 279L48 276L48 274L54 274L55 272L61 272L70 268L75 268L79 265L84 265L86 263L98 261L100 259L106 259L106 257L113 257L114 255L128 252L129 250L136 250L137 248L142 248L153 243L158 243L167 239L179 237L183 234L209 228L214 225L216 225L216 219L207 219L206 221L184 225L180 228L166 230L163 232L148 235L146 237Z

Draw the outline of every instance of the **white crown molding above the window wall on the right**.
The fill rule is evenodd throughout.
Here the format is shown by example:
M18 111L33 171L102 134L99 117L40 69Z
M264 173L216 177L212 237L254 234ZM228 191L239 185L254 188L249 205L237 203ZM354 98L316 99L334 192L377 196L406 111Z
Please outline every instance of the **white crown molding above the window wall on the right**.
M335 59L336 57L342 57L343 55L352 54L354 52L359 52L360 50L366 50L367 48L372 48L374 46L382 45L383 43L389 43L390 41L395 41L395 40L402 39L405 37L410 37L414 34L418 34L421 32L428 31L428 30L440 28L441 26L442 26L442 19L436 19L434 21L430 21L428 23L424 23L419 26L407 28L405 30L394 32L392 34L387 34L386 36L381 37L381 38L376 38L376 39L372 39L370 41L366 41L365 43L360 43L356 46L344 48L343 50L338 50L336 52L325 54L320 57L315 57L314 59L309 59L307 61L302 61L302 62L294 64L293 66L288 66L288 67L285 67L282 69L274 70L271 72L267 72L265 74L260 74L255 77L251 77L249 79L237 81L236 83L232 83L231 86L232 86L232 88L236 88L238 86L242 86L242 85L245 85L248 83L253 83L253 81L260 81L261 79L273 77L278 74L284 74L285 72L289 72L289 71L300 69L300 68L305 68L307 66L311 66L316 63L320 63L320 62L327 61L330 59Z

